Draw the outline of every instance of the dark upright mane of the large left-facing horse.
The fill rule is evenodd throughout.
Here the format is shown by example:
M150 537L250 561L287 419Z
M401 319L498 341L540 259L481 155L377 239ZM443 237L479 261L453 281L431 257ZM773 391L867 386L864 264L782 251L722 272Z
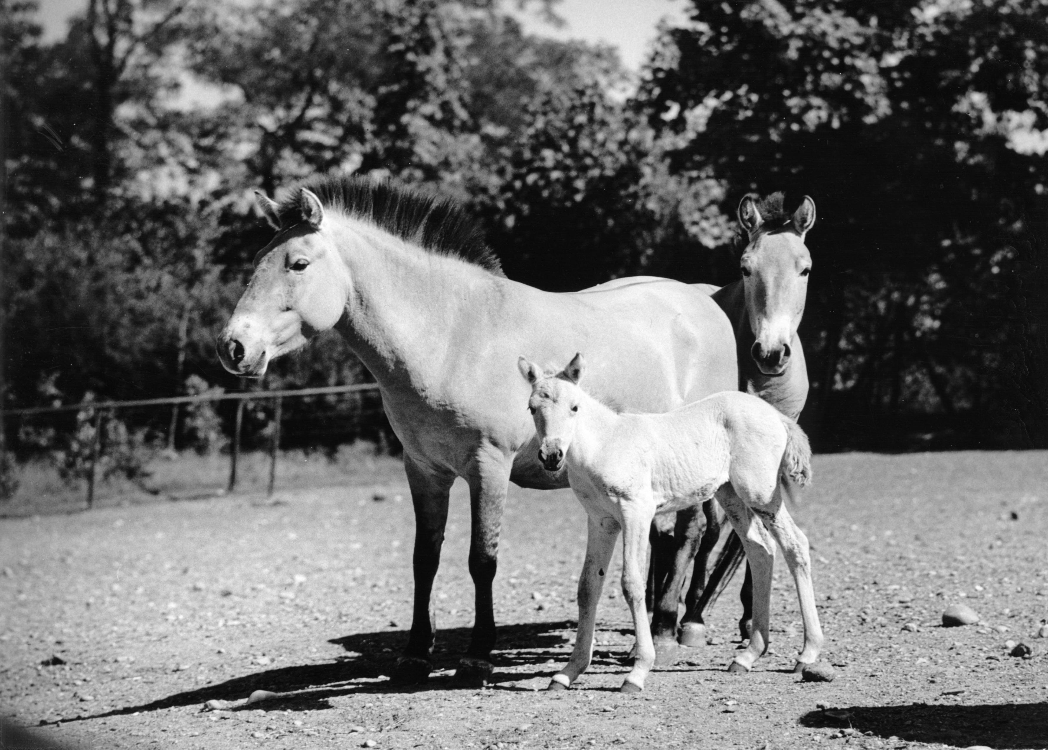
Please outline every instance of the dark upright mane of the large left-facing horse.
M301 195L306 188L325 208L369 221L436 255L459 258L503 276L502 264L484 241L480 226L458 205L434 195L352 176L319 177L291 191L277 209L280 226L302 221Z

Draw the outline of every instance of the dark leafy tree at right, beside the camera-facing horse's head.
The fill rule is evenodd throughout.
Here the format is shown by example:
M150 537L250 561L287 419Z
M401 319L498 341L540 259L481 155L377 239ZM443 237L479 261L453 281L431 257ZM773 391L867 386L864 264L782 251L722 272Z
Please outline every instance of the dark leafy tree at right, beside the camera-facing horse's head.
M824 416L846 390L874 426L908 401L971 413L981 398L1014 322L1007 235L1048 184L1046 13L697 0L694 26L665 35L638 105L679 138L674 168L708 170L736 200L785 189L818 206L804 329Z

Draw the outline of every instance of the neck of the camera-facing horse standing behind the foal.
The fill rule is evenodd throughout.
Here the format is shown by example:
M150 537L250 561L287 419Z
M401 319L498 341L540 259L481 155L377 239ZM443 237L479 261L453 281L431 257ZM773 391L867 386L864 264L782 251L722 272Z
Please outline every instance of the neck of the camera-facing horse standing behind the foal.
M796 419L808 399L808 373L801 341L793 335L793 356L786 370L777 378L761 372L750 355L757 340L749 323L746 292L742 279L722 286L713 294L714 301L724 310L735 330L736 352L739 360L739 390L759 395L781 412Z

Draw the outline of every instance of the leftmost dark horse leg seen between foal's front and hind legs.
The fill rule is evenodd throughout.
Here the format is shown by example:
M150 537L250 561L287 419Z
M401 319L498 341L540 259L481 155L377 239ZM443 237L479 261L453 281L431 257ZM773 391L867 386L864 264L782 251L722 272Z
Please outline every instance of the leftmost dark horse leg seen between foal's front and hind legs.
M677 513L673 521L673 534L661 533L660 530L652 544L652 565L656 569L655 580L658 583L655 605L652 609L652 640L655 643L656 666L670 666L677 659L677 609L680 604L680 590L695 556L702 529L698 508Z

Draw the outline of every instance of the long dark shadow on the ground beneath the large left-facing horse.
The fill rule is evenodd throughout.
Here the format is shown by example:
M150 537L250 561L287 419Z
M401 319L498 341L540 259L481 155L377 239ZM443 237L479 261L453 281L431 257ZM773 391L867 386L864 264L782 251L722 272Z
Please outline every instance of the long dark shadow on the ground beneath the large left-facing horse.
M525 688L507 683L555 672L556 666L547 662L564 660L565 636L573 634L574 627L573 622L566 620L500 626L497 650L493 655L496 670L488 680L489 687L523 690ZM475 686L471 688L457 684L452 677L452 670L458 666L458 660L468 647L471 633L472 629L468 627L439 633L433 653L435 673L428 682L420 685L399 686L384 679L393 673L397 658L408 642L408 634L403 630L383 630L330 640L329 643L340 645L346 650L345 656L336 657L334 661L276 667L175 693L143 705L126 706L104 713L60 721L67 723L180 706L203 706L209 701L241 702L231 706L231 710L310 711L330 708L329 699L352 693L476 689ZM500 671L500 668L521 666L532 668L512 673ZM255 690L269 690L278 693L278 697L261 703L242 704L243 699Z

